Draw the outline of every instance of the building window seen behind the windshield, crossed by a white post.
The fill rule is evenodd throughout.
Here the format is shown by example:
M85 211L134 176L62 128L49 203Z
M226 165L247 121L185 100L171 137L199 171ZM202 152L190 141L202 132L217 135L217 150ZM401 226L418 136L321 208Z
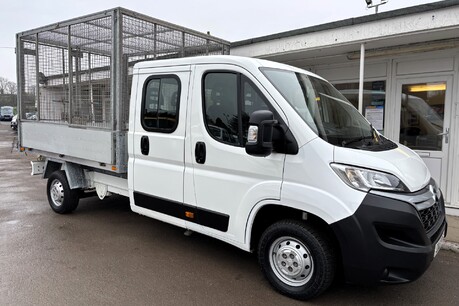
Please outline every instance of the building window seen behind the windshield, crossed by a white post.
M333 84L355 108L359 107L359 83ZM380 133L384 134L386 81L364 82L363 114Z

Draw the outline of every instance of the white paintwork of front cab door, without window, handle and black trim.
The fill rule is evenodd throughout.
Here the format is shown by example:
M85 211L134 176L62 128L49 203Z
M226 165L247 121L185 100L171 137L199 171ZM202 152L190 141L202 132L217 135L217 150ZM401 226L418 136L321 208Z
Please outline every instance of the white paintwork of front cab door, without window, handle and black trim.
M195 203L198 207L230 216L227 233L210 228L201 231L216 237L241 242L245 236L247 216L255 203L280 199L285 154L274 153L268 157L254 157L245 148L223 144L212 138L204 126L202 112L201 80L206 71L226 70L248 76L258 87L251 72L234 64L200 64L195 66L193 96L191 101L191 141L187 156L191 155ZM257 84L258 83L258 84ZM266 95L266 94L265 94ZM197 142L206 144L206 162L196 163L194 148ZM187 224L193 230L200 226Z

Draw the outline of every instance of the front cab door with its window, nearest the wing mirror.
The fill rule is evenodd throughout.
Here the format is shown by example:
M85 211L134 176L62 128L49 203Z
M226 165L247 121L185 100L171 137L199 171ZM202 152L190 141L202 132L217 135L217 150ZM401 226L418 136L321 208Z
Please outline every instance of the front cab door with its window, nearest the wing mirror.
M196 213L187 227L243 243L252 208L280 199L285 154L255 157L244 147L250 115L272 101L238 66L197 65L193 79L187 167Z

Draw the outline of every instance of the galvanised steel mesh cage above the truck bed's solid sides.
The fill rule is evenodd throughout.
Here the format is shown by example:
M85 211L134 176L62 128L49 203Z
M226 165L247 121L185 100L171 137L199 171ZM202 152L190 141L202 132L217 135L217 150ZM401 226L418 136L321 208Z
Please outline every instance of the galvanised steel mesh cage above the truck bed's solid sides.
M22 120L125 131L138 61L228 54L229 42L116 8L17 35Z

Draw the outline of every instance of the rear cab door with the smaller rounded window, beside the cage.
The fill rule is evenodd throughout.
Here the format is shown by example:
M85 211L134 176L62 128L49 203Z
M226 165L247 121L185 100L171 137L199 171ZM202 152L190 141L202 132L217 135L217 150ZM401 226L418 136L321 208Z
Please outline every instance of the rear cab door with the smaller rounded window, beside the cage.
M140 71L130 126L131 208L184 227L182 218L185 126L190 67ZM134 78L134 81L136 80ZM132 103L132 101L131 101Z

